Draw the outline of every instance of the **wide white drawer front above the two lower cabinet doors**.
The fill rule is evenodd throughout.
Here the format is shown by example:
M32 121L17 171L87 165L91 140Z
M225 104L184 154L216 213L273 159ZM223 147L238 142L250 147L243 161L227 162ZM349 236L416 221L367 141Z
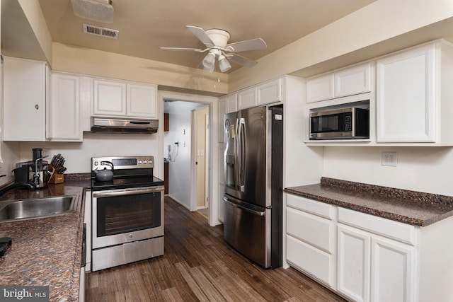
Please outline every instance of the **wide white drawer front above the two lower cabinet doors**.
M406 223L343 208L338 208L338 222L415 245L415 226L410 226Z

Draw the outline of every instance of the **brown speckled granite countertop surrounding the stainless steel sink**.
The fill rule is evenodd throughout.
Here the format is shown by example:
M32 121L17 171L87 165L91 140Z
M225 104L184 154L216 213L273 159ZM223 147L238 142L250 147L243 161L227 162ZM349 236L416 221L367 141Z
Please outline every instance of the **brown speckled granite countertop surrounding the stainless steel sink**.
M69 180L39 190L6 192L0 202L15 199L76 195L73 213L0 223L0 237L12 245L0 258L0 284L49 286L50 301L78 301L84 194L89 180Z

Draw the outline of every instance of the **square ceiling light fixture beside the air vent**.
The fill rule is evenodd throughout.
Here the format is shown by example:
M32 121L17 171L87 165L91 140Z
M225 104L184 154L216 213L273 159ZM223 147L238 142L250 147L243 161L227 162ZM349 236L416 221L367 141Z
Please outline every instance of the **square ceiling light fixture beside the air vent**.
M110 0L71 0L74 15L101 23L113 22L113 6Z

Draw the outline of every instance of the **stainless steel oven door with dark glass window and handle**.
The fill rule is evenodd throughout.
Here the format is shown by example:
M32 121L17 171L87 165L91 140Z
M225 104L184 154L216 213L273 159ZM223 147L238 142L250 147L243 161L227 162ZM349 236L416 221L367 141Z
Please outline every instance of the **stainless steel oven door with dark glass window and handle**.
M92 194L93 249L164 236L164 186Z

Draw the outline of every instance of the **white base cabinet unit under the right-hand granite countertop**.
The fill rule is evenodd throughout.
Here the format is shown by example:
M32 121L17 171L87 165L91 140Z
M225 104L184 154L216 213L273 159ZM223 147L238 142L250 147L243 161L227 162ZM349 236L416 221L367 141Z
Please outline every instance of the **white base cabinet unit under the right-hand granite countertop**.
M453 301L453 216L420 227L285 195L289 266L350 301Z

